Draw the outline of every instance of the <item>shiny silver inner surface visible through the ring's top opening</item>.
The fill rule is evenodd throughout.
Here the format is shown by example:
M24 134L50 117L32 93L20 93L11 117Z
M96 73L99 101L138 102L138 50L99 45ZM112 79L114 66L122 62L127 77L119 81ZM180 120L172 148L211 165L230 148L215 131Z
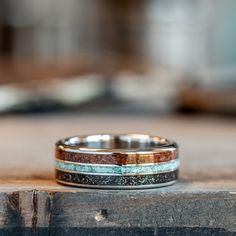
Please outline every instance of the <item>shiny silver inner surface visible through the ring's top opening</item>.
M63 142L68 146L90 149L151 149L171 144L165 138L141 134L111 135L99 134L71 137Z

